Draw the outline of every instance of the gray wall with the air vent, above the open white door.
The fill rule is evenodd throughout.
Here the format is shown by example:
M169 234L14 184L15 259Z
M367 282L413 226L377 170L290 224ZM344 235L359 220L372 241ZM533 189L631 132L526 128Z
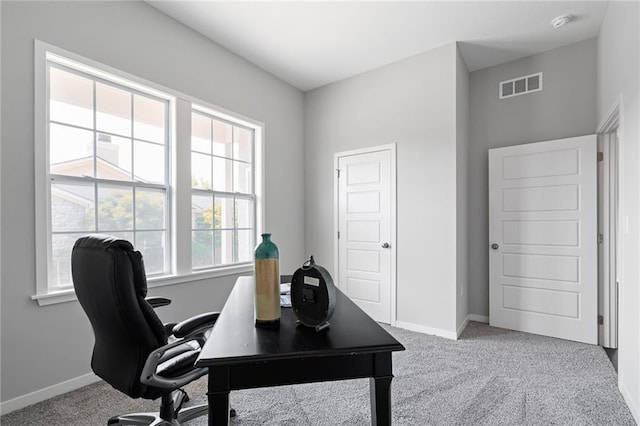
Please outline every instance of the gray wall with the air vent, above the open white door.
M500 81L542 71L543 89L500 100ZM593 134L596 40L470 73L469 312L489 315L488 150Z

